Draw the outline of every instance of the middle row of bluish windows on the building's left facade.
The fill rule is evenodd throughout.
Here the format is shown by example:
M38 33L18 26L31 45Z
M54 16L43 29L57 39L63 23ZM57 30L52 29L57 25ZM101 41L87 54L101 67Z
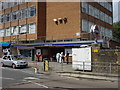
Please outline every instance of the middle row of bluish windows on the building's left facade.
M35 6L0 15L0 23L5 23L17 19L24 19L32 16L36 16Z

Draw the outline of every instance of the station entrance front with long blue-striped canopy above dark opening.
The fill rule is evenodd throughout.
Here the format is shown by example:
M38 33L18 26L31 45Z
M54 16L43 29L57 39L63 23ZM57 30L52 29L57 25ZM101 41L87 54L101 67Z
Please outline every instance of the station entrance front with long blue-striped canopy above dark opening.
M94 41L54 42L50 44L22 44L14 45L14 47L18 47L21 57L27 57L31 60L37 60L36 54L39 52L41 54L40 61L43 61L45 58L50 61L56 61L57 53L63 52L63 55L66 56L66 53L68 52L68 61L72 62L72 48L80 48L81 45L91 45L93 43ZM103 41L98 41L98 44L102 43ZM66 62L66 57L64 57L64 62Z

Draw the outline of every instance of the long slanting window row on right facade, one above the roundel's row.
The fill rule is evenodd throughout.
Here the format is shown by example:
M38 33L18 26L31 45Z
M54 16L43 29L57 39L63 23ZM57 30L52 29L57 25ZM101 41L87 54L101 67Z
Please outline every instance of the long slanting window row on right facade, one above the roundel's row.
M87 13L97 19L100 19L100 20L112 25L112 17L111 16L105 14L104 12L93 7L92 5L89 5L86 2L82 2L82 12Z

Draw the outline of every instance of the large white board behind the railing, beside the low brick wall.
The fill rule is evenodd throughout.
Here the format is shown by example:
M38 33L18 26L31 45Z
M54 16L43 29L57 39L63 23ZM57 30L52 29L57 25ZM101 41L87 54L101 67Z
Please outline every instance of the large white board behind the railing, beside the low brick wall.
M91 71L91 47L72 49L72 68Z

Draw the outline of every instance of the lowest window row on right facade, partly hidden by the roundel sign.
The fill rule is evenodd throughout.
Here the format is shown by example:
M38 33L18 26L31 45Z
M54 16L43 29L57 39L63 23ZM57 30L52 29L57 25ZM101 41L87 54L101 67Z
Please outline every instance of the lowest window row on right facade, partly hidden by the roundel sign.
M89 33L92 25L95 25L95 23L90 22L90 21L85 20L85 19L82 19L82 31ZM100 30L101 37L105 36L105 37L112 38L112 30L111 29L105 28L101 25L98 25L98 27Z

